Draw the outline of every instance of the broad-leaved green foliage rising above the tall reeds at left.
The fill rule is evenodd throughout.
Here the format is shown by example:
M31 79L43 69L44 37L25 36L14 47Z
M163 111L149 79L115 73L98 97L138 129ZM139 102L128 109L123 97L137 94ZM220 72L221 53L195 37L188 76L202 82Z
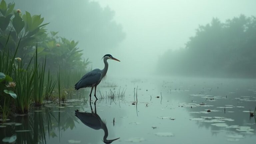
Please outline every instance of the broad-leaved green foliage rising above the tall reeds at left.
M82 58L82 50L76 47L78 42L58 37L58 32L48 34L45 26L49 23L43 23L41 15L31 15L27 11L23 14L19 9L14 10L14 6L15 3L7 5L4 0L0 3L0 50L6 46L14 53L21 39L17 57L23 57L26 62L38 44L39 62L47 55L46 68L57 70L60 65L66 69L86 69L89 61Z

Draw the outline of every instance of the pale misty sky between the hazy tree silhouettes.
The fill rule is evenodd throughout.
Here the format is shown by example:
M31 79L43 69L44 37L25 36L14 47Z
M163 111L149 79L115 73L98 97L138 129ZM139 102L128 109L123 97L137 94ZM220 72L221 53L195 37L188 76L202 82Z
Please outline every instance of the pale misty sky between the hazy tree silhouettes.
M225 21L240 14L256 16L255 0L94 1L115 11L115 20L126 33L125 40L111 52L121 63L111 62L108 75L154 73L159 55L184 47L195 29L210 23L213 17Z

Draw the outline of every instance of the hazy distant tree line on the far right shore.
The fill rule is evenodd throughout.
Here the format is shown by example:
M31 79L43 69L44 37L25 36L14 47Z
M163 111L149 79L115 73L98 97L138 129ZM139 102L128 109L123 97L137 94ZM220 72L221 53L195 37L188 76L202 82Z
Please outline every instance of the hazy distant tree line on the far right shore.
M256 17L213 18L199 26L185 48L162 55L158 70L181 76L256 77Z

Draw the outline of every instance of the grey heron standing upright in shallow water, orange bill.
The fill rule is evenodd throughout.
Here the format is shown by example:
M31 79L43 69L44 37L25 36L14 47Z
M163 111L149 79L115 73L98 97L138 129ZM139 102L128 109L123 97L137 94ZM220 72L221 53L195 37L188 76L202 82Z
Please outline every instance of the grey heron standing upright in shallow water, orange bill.
M94 92L94 96L96 99L98 99L96 97L96 88L97 85L101 82L101 80L106 76L107 71L108 71L108 59L112 59L112 60L116 60L119 61L118 59L114 58L112 55L110 54L106 54L102 57L103 61L104 61L104 68L102 70L100 69L94 69L90 72L88 72L87 74L85 74L76 84L75 84L75 89L79 90L80 88L86 88L86 87L91 87L91 93L90 93L90 100L91 100L91 95L92 95L92 90L93 87L95 88L95 92Z

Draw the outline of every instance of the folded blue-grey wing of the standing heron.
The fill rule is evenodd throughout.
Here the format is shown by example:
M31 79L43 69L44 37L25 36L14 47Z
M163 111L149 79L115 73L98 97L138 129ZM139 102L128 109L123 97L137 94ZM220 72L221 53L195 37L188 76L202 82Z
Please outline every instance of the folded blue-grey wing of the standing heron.
M100 80L101 72L99 69L92 70L85 74L76 84L75 89L90 87L92 84Z

